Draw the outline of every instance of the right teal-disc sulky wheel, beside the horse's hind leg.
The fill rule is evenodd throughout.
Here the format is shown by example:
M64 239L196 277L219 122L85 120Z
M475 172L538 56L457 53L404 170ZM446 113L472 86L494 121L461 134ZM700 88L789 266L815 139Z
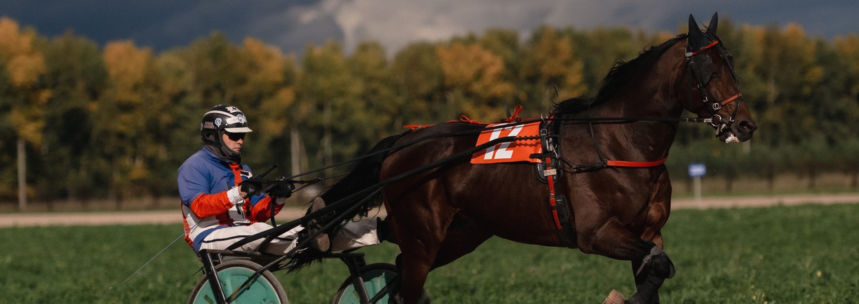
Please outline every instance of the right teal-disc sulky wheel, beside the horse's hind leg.
M364 289L367 290L371 303L387 303L391 295L396 295L397 288L394 286L397 282L397 267L393 264L378 263L369 264L361 268L361 278L363 279ZM353 304L362 303L359 290L355 289L355 277L348 277L340 285L337 290L337 295L334 295L334 304ZM380 295L381 294L381 295Z

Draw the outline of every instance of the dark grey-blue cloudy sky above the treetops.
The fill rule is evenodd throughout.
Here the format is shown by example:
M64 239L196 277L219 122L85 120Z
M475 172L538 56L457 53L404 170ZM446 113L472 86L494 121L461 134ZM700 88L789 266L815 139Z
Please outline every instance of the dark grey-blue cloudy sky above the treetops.
M628 26L678 33L689 14L713 12L756 26L800 24L825 39L859 33L856 0L0 0L0 15L53 37L71 30L103 44L134 40L156 51L187 46L212 31L301 52L308 43L380 41L396 52L417 40L448 40L489 27Z

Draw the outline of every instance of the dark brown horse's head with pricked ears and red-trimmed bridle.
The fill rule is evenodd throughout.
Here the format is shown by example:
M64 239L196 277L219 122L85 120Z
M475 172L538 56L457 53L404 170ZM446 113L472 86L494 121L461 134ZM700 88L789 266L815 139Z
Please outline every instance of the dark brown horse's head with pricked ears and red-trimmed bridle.
M686 110L709 117L716 137L725 143L745 142L757 128L752 114L743 103L740 81L734 72L734 58L716 36L719 19L714 14L706 31L689 15L686 38L685 84L690 95L682 100ZM696 91L696 92L692 92Z

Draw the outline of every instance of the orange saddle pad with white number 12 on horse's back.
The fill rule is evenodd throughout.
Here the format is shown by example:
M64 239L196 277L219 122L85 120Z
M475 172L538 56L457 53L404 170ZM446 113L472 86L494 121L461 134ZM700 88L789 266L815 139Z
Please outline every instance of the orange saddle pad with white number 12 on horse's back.
M510 126L493 128L499 125ZM489 143L491 140L500 137L535 137L535 139L519 140L510 143L498 143L490 148L474 153L474 155L472 155L472 164L490 164L513 161L543 162L540 159L529 157L535 153L542 153L539 137L537 137L538 135L539 121L525 125L512 125L510 123L487 125L486 129L480 132L478 143L474 145L475 147L484 143Z

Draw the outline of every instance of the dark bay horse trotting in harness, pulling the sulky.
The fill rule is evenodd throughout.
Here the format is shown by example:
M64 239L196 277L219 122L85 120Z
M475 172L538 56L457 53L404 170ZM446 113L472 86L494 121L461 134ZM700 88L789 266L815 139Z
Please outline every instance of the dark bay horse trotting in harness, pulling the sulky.
M337 202L390 182L379 199L359 204L363 212L385 205L401 251L399 300L406 303L427 301L423 284L429 272L493 235L629 260L637 292L628 301L611 301L658 302L674 267L662 251L661 234L671 210L671 181L657 160L667 158L682 112L706 119L726 143L746 141L756 128L742 102L733 59L716 36L717 23L713 15L702 31L690 15L688 33L618 61L594 99L554 106L545 121L557 124L557 169L564 174L553 180L553 191L536 178L532 163L470 163L470 155L460 152L475 147L485 125L444 123L386 138L371 151L385 153L359 162L321 197ZM555 195L569 199L551 200ZM554 203L569 204L572 242L558 233L550 212Z

